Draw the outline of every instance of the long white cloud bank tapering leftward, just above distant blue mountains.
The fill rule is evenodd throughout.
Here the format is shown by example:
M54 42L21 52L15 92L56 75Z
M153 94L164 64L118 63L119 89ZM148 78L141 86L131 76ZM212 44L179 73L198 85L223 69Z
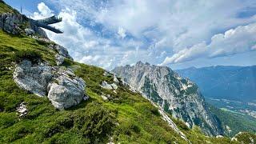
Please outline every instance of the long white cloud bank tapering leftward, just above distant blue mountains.
M227 30L224 34L215 34L209 45L206 42L196 44L166 57L162 65L178 62L187 62L195 58L215 58L230 54L240 54L255 50L256 23L247 26L238 26Z

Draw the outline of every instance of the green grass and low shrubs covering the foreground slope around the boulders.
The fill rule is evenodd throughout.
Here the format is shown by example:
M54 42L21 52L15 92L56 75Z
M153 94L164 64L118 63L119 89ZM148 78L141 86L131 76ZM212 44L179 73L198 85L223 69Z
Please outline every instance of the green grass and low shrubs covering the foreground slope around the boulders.
M112 136L118 142L184 142L162 121L158 111L139 94L119 86L118 94L102 89L104 70L78 62L67 62L86 81L87 102L68 110L55 110L47 98L38 98L21 90L13 81L14 62L22 58L39 58L55 66L54 50L33 38L14 36L0 30L0 143L27 142L107 142ZM40 55L38 57L38 55ZM111 94L104 102L100 94ZM26 102L29 113L18 118L16 107Z

